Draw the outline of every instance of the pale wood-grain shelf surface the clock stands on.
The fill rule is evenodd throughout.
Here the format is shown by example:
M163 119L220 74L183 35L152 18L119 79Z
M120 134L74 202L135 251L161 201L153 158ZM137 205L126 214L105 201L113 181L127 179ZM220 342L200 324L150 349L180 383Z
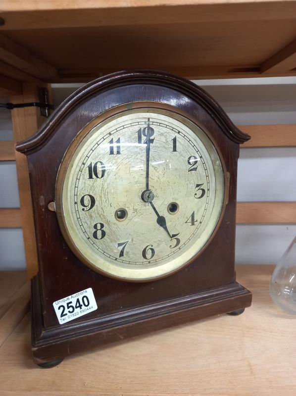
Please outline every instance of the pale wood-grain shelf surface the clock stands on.
M32 363L27 315L0 348L2 396L278 396L296 389L296 316L269 297L274 266L237 266L253 293L237 317L220 315L66 358ZM16 380L17 379L17 380Z

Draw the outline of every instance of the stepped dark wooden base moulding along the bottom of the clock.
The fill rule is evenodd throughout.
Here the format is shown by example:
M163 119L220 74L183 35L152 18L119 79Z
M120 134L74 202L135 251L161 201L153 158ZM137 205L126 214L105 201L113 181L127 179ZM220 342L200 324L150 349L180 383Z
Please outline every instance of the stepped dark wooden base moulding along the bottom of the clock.
M234 282L217 289L148 304L107 317L45 330L39 279L32 281L32 351L36 364L63 359L87 349L121 342L153 331L237 311L251 305L251 293Z

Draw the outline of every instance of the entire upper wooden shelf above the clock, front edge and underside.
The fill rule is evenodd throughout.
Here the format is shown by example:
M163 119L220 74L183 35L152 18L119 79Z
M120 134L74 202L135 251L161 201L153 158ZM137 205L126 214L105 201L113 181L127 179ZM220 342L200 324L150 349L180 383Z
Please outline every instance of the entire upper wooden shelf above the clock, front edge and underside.
M84 82L138 68L296 76L296 1L14 0L0 18L2 85L15 92L11 79Z

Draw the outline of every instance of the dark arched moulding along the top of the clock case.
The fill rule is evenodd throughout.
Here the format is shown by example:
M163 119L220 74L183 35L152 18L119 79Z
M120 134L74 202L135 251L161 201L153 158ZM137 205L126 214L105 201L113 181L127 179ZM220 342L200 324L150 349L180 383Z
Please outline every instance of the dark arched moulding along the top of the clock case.
M203 107L209 116L218 123L223 133L231 141L242 144L250 139L249 135L237 128L222 107L209 94L193 82L165 72L140 70L121 71L109 74L79 88L57 107L35 135L29 139L18 142L16 150L24 154L39 150L50 139L54 129L71 111L73 111L73 109L77 109L88 99L107 90L135 84L162 86L177 91Z

